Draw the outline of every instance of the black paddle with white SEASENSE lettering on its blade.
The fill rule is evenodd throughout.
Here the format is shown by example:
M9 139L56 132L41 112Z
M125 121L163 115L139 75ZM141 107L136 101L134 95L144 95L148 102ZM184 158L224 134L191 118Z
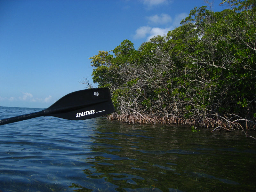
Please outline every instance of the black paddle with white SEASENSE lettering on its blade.
M76 91L65 95L49 108L0 120L0 125L14 123L40 116L54 116L69 120L84 120L99 117L115 111L108 88Z

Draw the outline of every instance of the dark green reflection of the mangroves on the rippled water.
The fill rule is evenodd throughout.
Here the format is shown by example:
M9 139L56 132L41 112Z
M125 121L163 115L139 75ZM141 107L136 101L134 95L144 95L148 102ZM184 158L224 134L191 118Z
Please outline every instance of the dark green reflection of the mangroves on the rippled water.
M100 118L96 123L95 155L86 159L93 169L84 171L83 186L73 183L71 187L81 191L255 190L255 141L239 132L193 133L184 126L106 123ZM99 181L104 184L95 186Z

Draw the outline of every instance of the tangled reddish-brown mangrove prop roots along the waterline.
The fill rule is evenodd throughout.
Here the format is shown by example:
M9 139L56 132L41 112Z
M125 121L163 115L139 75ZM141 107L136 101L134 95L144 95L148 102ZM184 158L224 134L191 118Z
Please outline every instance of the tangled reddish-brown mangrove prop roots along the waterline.
M161 116L149 116L143 113L137 112L136 110L131 110L126 113L119 114L118 112L112 113L108 116L108 120L118 120L124 123L132 124L182 124L190 126L198 126L205 128L214 128L215 130L256 130L256 124L252 121L237 118L234 119L234 114L231 114L229 117L221 116L202 116L196 118L185 118L183 116L174 116L167 115L164 117Z

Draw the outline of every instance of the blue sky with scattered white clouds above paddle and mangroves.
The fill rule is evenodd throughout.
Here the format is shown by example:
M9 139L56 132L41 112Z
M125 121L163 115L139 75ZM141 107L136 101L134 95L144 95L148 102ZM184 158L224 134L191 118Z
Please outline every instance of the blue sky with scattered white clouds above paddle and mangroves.
M220 0L213 11L222 11ZM92 82L89 57L137 49L204 0L0 0L0 106L47 108ZM95 85L97 86L97 85Z

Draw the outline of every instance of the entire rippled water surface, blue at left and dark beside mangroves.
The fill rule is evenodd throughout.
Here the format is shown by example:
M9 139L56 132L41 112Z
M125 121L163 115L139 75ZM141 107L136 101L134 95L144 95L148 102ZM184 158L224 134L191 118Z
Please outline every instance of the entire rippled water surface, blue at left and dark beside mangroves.
M0 119L40 110L0 107ZM256 141L243 132L104 117L38 117L0 128L0 192L256 190Z

